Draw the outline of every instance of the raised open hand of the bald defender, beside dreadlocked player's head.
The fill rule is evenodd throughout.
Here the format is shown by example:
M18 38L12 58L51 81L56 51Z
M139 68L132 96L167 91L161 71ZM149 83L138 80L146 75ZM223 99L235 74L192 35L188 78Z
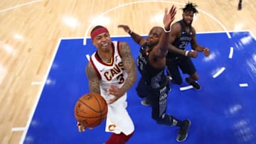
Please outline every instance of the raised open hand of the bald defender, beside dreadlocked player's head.
M171 9L168 8L164 11L164 28L166 31L170 30L171 23L174 21L176 15L176 6L171 6Z

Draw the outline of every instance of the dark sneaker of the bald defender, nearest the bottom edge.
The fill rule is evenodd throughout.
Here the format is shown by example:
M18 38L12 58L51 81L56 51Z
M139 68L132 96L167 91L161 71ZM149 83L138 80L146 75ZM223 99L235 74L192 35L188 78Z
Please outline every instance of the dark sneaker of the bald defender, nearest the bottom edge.
M183 121L183 123L184 123L184 125L181 126L181 128L178 132L177 138L176 138L176 140L178 142L183 142L188 137L188 129L191 125L191 121L189 119L187 119L187 120Z

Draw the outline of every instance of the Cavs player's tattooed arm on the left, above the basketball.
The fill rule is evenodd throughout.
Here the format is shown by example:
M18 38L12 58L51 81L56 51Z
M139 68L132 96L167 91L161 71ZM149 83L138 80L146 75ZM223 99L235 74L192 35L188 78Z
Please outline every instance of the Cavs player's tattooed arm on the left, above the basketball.
M100 94L100 79L97 77L97 74L90 62L88 62L85 71L86 71L87 79L89 79L88 83L89 83L90 92L95 92L97 94Z

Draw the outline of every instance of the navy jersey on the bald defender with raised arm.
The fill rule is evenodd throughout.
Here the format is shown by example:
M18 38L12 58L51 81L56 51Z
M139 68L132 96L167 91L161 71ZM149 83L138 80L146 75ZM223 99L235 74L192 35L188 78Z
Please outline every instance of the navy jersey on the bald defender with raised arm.
M146 43L142 45L137 57L137 67L142 74L142 79L152 89L161 89L166 86L166 76L164 75L164 68L158 69L149 64L149 53L146 51Z

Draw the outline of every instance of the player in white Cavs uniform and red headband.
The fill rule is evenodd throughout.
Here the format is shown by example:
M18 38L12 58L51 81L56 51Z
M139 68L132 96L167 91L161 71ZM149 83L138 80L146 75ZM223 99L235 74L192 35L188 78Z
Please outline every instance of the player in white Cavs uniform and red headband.
M129 45L112 41L107 28L95 26L91 39L97 51L86 67L90 92L101 94L108 104L105 131L113 133L105 144L126 143L134 133L127 112L127 91L137 80L137 71ZM78 123L79 131L85 127Z

